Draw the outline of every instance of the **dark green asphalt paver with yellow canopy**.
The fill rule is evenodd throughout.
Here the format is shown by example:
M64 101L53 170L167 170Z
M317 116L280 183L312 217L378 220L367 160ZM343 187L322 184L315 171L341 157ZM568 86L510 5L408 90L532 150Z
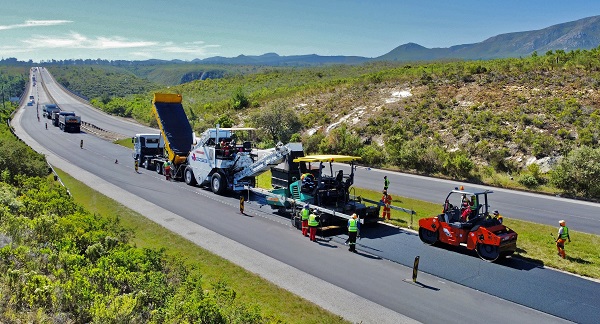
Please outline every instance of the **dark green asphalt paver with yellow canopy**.
M353 213L363 224L378 221L379 204L367 206L360 197L351 195L355 162L360 157L348 155L309 155L288 159L271 169L274 189L266 193L267 204L273 209L292 210L292 222L300 228L299 211L308 204L320 216L319 230L323 235L346 230ZM350 173L334 171L334 162L350 163ZM299 207L299 208L297 208Z

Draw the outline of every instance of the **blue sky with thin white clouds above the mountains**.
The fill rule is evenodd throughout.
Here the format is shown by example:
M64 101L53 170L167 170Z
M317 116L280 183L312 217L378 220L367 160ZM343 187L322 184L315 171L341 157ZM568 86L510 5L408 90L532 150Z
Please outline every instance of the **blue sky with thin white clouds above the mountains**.
M0 58L378 57L600 15L597 0L0 0Z

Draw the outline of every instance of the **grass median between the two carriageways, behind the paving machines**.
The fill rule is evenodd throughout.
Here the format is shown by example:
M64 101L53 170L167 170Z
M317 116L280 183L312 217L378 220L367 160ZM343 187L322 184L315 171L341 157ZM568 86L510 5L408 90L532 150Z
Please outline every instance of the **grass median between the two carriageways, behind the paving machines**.
M263 173L258 177L258 185L261 188L270 189L270 177L270 172ZM351 194L375 201L381 199L380 192L363 188L354 187ZM419 219L438 215L442 211L441 202L435 204L418 199L399 197L394 195L393 192L390 192L390 195L393 198L392 205L412 209L416 212L416 215L413 215L411 226L415 230L419 227ZM556 236L558 224L556 227L552 227L512 219L510 215L503 215L503 217L504 224L519 234L516 257L547 267L600 279L600 254L598 253L600 236L569 229L572 242L566 244L567 258L563 260L556 255L556 245L554 239L550 236L550 233ZM411 216L392 209L391 220L388 223L400 227L409 227Z

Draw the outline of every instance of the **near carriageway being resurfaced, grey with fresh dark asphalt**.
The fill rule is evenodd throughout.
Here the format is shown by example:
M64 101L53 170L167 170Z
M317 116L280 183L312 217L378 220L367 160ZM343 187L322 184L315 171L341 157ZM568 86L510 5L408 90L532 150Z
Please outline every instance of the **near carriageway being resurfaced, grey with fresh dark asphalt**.
M53 94L53 97L58 96ZM45 100L43 94L36 99ZM598 318L600 302L596 293L600 285L596 282L517 259L503 264L487 263L464 251L424 245L412 232L383 225L364 229L359 253L349 254L341 244L345 237L311 243L290 226L289 220L256 203L247 205L250 217L244 217L236 212L237 197L216 196L183 183L165 182L151 171L136 174L129 150L84 133L65 134L54 127L45 130L43 123L37 122L32 107L26 107L15 123L33 142L47 147L42 150L58 156L56 163L80 168L82 178L84 174L95 174L109 184L109 191L124 190L154 202L256 253L412 319L421 322L486 319L500 323L560 322L562 318L594 323ZM81 138L85 139L84 149L79 148ZM115 164L115 159L122 162ZM357 185L361 186L358 181ZM190 232L180 234L185 236ZM419 275L421 285L405 280L412 271L403 265L412 266L416 255L420 256L420 269L424 271ZM317 291L307 291L306 287L290 290L313 301L320 300L319 295L325 293L316 288ZM336 309L334 300L322 303L327 309ZM373 321L374 317L367 315L366 310L357 316L352 320L380 322Z

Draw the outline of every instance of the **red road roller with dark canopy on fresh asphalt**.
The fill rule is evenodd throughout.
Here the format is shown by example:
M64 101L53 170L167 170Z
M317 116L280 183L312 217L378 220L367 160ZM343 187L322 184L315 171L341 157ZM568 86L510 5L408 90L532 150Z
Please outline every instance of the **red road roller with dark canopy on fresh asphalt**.
M433 245L437 242L475 250L480 258L496 261L517 249L517 233L490 216L488 195L493 191L464 191L455 188L444 202L438 216L419 220L419 238Z

